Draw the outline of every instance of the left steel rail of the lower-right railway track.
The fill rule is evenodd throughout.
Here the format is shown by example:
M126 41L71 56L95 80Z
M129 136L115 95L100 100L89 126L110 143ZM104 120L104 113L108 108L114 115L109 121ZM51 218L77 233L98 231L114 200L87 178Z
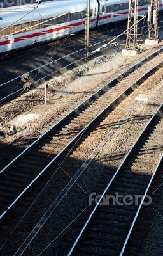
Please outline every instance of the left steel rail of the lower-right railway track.
M99 198L97 204L95 205L94 209L92 210L89 218L87 219L87 221L85 222L85 225L83 226L83 228L81 229L80 234L78 235L78 237L76 238L76 240L74 241L73 246L71 247L71 250L69 251L69 253L67 254L67 256L72 256L74 255L80 241L81 238L83 237L84 232L87 230L90 221L92 220L92 218L94 217L94 214L97 211L97 208L99 207L100 203L102 202L104 195L106 195L106 193L108 193L108 190L110 189L111 185L113 184L113 182L115 181L115 179L117 178L118 173L121 172L122 168L125 166L126 162L128 161L129 157L131 156L131 153L133 152L134 148L137 147L137 145L139 144L139 141L141 141L141 139L143 138L143 136L146 133L146 130L150 127L150 125L152 124L153 120L155 119L155 117L158 115L160 109L163 108L163 104L159 107L159 109L157 109L157 111L155 111L154 115L152 116L152 118L150 118L150 121L148 122L148 124L145 126L145 128L143 129L143 131L141 132L141 134L138 136L137 140L134 142L134 144L132 145L131 149L129 150L129 152L127 153L127 155L125 156L124 160L122 161L122 163L120 164L120 166L118 167L117 171L115 172L115 174L113 175L113 177L111 178L110 182L108 183L108 186L106 186L106 189L104 189L103 194L101 195L101 197Z

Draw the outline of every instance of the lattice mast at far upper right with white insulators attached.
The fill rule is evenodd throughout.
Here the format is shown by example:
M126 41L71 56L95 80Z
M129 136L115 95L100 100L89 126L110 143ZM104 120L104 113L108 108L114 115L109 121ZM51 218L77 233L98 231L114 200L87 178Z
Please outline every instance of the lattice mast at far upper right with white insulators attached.
M150 0L150 6L148 7L148 39L159 39L158 13L159 0Z

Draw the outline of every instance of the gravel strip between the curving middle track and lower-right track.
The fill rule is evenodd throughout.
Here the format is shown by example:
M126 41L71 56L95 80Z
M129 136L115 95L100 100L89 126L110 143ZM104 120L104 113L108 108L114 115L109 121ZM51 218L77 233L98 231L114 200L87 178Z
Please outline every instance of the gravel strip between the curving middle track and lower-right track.
M158 74L162 73L160 70L159 73L155 74L159 80ZM73 189L67 194L62 203L57 207L57 210L52 214L45 227L39 232L38 236L32 242L30 248L25 252L24 255L39 255L39 253L51 242L55 237L59 236L60 232L73 221L78 214L80 214L88 204L88 196L92 191L96 191L97 184L103 179L103 172L111 166L112 170L117 168L120 161L122 161L124 154L126 154L129 147L138 136L139 132L143 129L148 118L152 113L157 109L157 104L160 104L162 100L162 84L155 84L152 86L150 81L155 81L153 77L148 79L148 83L144 83L142 86L139 86L129 97L127 97L122 104L120 104L110 115L104 118L103 122L99 124L99 127L90 134L88 137L85 137L85 141L81 141L78 144L78 148L74 151L67 159L64 164L64 168L67 173L72 177L74 172L79 166L83 163L83 159L87 159L89 152L96 148L98 141L101 141L101 136L104 136L106 132L109 131L111 124L115 123L117 118L123 116L126 111L132 106L134 97L139 93L150 93L150 102L146 104L141 104L138 109L132 113L128 122L125 122L124 125L114 134L106 146L101 150L100 154L94 159L89 168L85 170L85 173L78 180L78 184L83 188L87 193L83 191L78 185L74 185ZM142 116L142 118L140 118ZM139 117L139 118L138 118ZM95 140L96 138L96 140ZM73 168L72 168L73 166ZM53 172L53 169L51 173ZM12 252L15 252L15 249L18 248L18 245L24 241L24 238L31 231L31 227L34 227L36 221L42 216L43 212L46 211L48 205L52 204L52 200L56 198L59 194L60 189L66 184L67 179L66 173L62 169L59 170L58 174L55 175L53 180L50 182L46 188L45 193L41 195L38 202L34 204L31 211L27 214L24 221L20 227L14 233L14 236L8 241L8 245L4 247L3 254L11 255ZM17 209L13 211L13 216L10 219L4 221L3 229L1 229L1 237L3 239L6 236L6 227L8 229L8 234L10 233L10 228L14 227L17 223L19 214L21 211L25 211L25 204L30 202L32 196L36 196L41 186L46 182L46 177L41 180L41 185L35 187L34 191L31 191L27 198L23 200L22 204L19 204ZM26 205L27 207L27 205ZM32 216L32 217L31 217ZM71 227L69 227L71 228ZM46 252L43 255L60 255L57 248L60 247L62 242L62 236L57 237L55 241L51 244ZM18 238L17 238L18 237Z

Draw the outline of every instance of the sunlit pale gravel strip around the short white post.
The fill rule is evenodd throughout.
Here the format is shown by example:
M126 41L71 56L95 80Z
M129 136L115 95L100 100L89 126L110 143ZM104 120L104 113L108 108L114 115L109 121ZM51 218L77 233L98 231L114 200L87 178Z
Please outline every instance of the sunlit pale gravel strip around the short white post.
M153 47L152 51L155 51L155 49L157 47ZM2 116L6 116L10 124L14 125L15 117L19 118L20 116L21 119L22 113L23 115L38 115L39 118L25 122L21 131L18 131L17 134L10 138L4 139L2 142L14 143L19 138L22 140L22 138L38 136L46 125L54 124L58 118L66 115L74 106L80 104L110 79L118 76L127 67L141 60L150 52L151 49L148 49L138 56L129 56L128 58L121 56L118 52L105 54L85 63L81 67L66 72L62 76L50 79L48 81L47 105L44 104L45 84L5 104L0 108L0 113Z

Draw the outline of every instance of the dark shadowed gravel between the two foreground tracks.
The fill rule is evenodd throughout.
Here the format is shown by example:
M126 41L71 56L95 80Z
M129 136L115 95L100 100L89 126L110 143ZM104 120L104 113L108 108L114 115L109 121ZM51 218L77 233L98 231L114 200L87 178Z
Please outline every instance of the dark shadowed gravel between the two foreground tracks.
M146 154L150 150L153 152L153 150L157 149L158 147L155 145L149 151L147 150ZM45 250L43 253L44 256L67 255L67 250L71 246L72 239L76 237L83 223L87 220L90 211L92 211L92 207L88 207L90 193L94 191L97 192L97 195L103 193L104 188L106 188L111 177L113 177L113 174L117 170L118 166L115 166L115 161L118 160L117 163L120 163L124 159L125 154L126 152L120 151L118 154L106 154L98 161L92 161L90 166L74 184L73 188L71 188L71 191L67 193L67 196L64 197L62 202L54 210L45 226L41 229L41 232L38 233L31 243L30 248L27 249L27 255L38 256L50 243L52 244ZM45 157L44 155L41 159ZM62 160L63 158L60 159L60 161ZM59 164L60 161L58 162ZM3 244L6 239L8 241L3 247L3 255L13 255L16 252L18 246L24 242L24 239L29 235L32 228L35 227L41 216L52 205L52 202L57 198L67 182L72 180L73 175L83 163L84 161L79 159L67 157L61 167L58 164L54 164L38 184L34 186L34 189L27 193L24 200L11 212L11 217L4 220L3 227L0 226L0 243ZM106 166L106 163L108 166ZM58 168L57 173L55 173L56 168ZM32 206L24 220L22 220L21 225L18 225L13 236L10 237L11 230L54 173L53 179L43 191L42 195L39 196L39 199ZM141 175L148 176L145 173L141 173ZM77 216L78 218L76 218Z

